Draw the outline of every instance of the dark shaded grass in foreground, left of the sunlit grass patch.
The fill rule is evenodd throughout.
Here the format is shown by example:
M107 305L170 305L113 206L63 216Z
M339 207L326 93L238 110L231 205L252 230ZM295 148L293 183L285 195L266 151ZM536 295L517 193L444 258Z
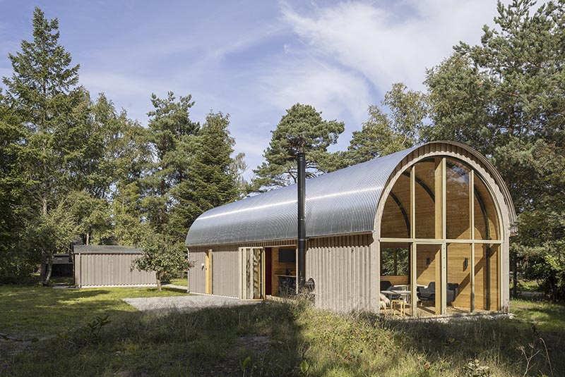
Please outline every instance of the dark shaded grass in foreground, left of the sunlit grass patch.
M31 357L42 363L19 354L8 375L295 376L302 361L298 315L286 304L110 314L97 335L77 326L40 345Z

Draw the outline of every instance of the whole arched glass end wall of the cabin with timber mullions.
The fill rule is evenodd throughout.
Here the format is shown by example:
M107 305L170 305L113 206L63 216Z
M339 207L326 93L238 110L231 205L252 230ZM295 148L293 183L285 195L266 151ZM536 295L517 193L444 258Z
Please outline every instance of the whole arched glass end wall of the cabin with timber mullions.
M501 307L501 226L488 186L451 157L407 168L381 217L381 293L397 314L435 316Z

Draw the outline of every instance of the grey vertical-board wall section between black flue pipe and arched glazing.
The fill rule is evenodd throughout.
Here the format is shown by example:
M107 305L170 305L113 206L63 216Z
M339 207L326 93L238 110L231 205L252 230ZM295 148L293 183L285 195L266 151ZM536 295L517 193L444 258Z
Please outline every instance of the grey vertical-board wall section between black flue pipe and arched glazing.
M371 309L371 242L370 234L308 241L306 278L316 282L316 307Z

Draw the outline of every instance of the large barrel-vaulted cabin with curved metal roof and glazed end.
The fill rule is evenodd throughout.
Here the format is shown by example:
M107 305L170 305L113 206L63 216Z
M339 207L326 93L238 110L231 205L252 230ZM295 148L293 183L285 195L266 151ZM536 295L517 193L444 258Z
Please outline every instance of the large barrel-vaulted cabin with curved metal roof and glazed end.
M305 277L316 306L334 311L506 313L515 221L484 156L458 142L423 144L307 180ZM189 290L295 292L296 245L295 185L210 209L186 235Z

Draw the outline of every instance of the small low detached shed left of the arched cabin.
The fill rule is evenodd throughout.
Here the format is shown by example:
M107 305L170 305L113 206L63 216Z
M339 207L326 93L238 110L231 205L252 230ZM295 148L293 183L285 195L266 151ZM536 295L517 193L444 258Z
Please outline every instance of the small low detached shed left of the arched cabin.
M75 245L74 279L78 288L148 287L157 285L155 272L131 268L141 250L128 246Z

